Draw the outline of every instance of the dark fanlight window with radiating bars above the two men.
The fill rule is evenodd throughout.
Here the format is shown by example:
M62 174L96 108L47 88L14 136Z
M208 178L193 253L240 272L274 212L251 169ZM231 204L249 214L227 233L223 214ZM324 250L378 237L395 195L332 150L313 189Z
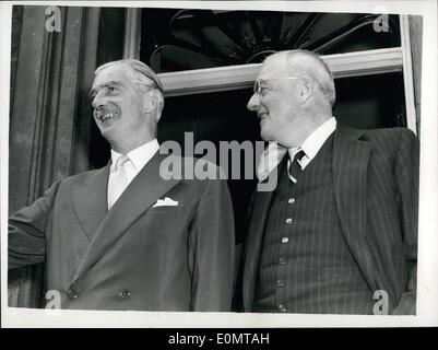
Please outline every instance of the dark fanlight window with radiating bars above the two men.
M400 46L398 15L143 9L142 61L156 72L261 62L303 48L321 55Z

